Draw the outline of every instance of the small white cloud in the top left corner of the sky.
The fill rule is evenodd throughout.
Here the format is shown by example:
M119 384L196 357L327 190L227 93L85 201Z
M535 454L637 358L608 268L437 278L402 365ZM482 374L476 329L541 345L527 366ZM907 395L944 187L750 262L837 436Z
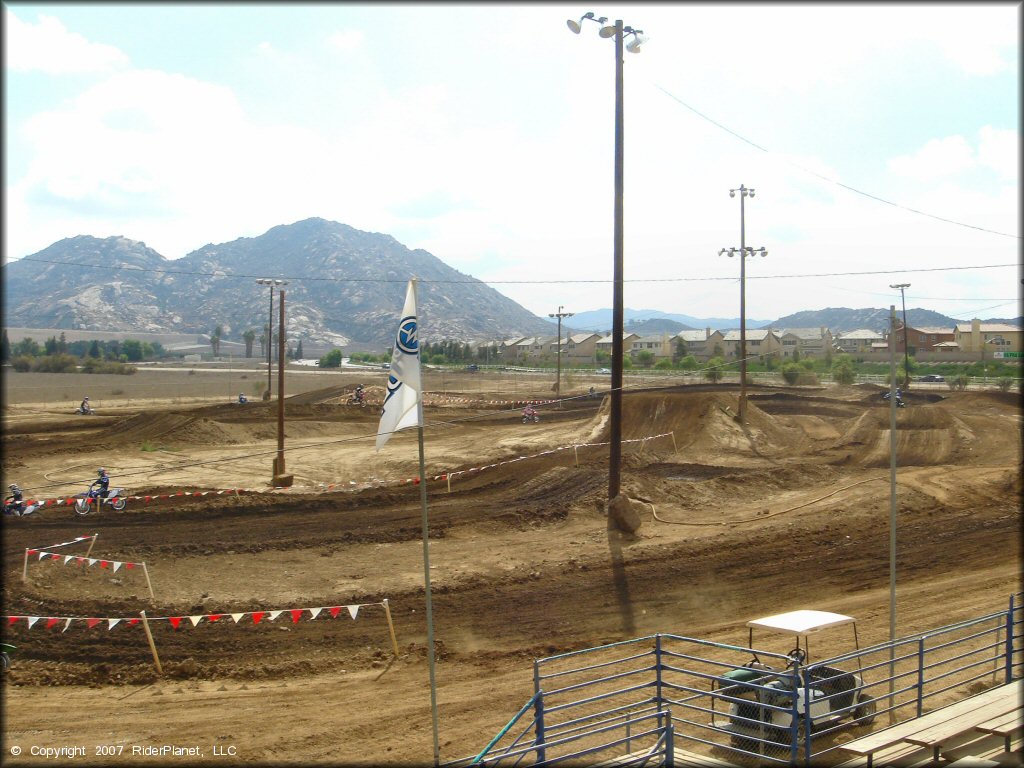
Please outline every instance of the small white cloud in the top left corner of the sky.
M53 16L40 14L33 25L5 8L4 26L4 66L14 72L66 75L110 72L128 65L128 56L117 47L69 32Z

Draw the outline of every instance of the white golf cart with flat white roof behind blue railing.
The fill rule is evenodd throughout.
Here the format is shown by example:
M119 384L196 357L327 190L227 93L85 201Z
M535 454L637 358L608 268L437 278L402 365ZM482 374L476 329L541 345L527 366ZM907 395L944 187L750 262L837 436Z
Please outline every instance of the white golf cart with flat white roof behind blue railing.
M729 706L724 724L712 724L730 734L730 742L748 752L767 748L788 749L794 725L796 696L797 733L802 740L808 726L811 731L839 723L844 719L858 725L874 720L877 705L864 691L864 680L858 673L847 672L809 662L809 638L822 630L849 625L853 629L854 648L857 642L856 620L825 610L793 610L748 622L748 647L754 658L738 669L722 675L715 686L719 696ZM754 650L754 630L769 630L796 637L796 646L786 656L784 670L764 664ZM763 754L763 753L762 753Z

